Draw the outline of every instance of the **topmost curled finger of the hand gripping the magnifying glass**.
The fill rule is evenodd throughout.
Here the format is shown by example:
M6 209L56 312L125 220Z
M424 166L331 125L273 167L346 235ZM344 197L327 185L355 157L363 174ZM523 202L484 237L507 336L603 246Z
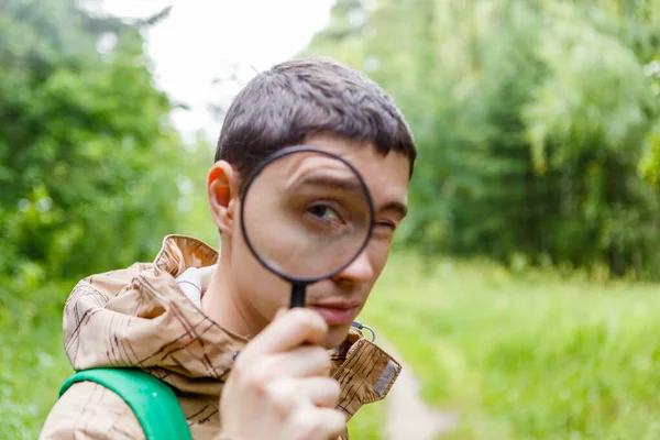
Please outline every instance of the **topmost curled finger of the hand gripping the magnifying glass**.
M250 341L242 353L279 353L302 343L318 344L328 331L328 324L316 311L305 308L286 310Z

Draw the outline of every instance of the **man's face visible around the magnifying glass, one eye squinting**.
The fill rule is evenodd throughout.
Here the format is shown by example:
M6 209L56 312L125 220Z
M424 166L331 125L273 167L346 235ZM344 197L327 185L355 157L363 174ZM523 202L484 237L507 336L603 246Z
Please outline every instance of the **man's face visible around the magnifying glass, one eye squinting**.
M351 163L366 183L374 204L375 226L364 251L331 279L307 287L307 307L315 308L328 322L329 332L323 345L330 349L343 342L385 266L395 229L407 207L409 161L402 153L382 156L372 146L331 135L312 136L305 145L338 154ZM255 260L241 233L239 204L234 206L231 277L237 299L242 302L241 309L249 315L243 319L250 319L258 327L270 322L279 308L288 306L290 284ZM226 242L223 245L229 244Z

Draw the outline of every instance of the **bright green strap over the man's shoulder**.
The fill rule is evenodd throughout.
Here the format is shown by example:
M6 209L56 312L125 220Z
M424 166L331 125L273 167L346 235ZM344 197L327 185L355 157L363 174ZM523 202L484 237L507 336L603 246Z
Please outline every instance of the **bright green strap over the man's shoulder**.
M176 395L167 384L138 369L82 370L66 380L59 396L77 382L96 382L114 392L133 410L146 440L193 440Z

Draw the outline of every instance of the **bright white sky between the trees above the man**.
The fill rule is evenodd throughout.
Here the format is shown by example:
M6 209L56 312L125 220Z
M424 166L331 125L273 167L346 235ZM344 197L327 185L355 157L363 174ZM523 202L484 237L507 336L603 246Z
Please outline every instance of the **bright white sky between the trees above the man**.
M256 72L295 56L330 20L332 0L101 0L103 12L169 16L146 33L156 86L190 107L172 118L184 135L199 130L216 140L221 120L209 106L226 106ZM233 82L213 85L238 73Z

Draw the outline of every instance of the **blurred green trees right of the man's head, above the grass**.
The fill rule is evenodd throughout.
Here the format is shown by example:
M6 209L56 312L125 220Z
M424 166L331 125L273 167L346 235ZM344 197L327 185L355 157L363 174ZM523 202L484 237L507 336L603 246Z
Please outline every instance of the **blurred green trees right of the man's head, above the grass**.
M658 7L345 0L302 55L364 70L408 117L404 241L656 279Z

